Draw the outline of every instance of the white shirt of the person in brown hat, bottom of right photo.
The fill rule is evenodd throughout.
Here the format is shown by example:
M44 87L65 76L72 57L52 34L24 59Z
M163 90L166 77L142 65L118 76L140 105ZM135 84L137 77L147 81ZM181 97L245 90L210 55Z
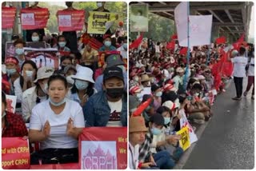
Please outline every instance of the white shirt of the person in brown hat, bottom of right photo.
M129 168L138 168L139 145L131 145L129 142Z

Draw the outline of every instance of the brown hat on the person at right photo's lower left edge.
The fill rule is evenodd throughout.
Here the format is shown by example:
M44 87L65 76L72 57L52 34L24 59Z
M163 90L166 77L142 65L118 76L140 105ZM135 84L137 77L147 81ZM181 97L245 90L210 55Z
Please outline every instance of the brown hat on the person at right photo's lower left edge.
M147 132L144 117L130 117L129 118L129 133Z

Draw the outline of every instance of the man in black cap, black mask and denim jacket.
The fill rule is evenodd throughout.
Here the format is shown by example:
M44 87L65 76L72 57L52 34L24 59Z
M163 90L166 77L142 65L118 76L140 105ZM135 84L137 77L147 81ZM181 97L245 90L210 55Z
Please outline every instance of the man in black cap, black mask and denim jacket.
M83 106L88 126L127 126L127 94L122 70L104 70L103 91L95 93Z

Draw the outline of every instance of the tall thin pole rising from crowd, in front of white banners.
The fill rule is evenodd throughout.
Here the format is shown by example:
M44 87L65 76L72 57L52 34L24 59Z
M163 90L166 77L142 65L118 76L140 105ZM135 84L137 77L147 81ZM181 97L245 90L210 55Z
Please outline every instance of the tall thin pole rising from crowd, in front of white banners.
M190 2L187 2L187 54L186 54L186 72L183 79L183 88L186 89L187 78L190 66Z

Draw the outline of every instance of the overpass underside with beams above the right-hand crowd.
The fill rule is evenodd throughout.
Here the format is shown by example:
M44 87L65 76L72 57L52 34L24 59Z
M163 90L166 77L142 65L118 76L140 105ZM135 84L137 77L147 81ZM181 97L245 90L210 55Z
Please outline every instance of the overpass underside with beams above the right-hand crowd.
M130 2L130 4L147 4L150 13L171 20L174 20L174 9L179 3ZM212 40L223 35L229 42L234 42L243 33L248 40L252 6L254 2L190 2L190 14L213 14Z

